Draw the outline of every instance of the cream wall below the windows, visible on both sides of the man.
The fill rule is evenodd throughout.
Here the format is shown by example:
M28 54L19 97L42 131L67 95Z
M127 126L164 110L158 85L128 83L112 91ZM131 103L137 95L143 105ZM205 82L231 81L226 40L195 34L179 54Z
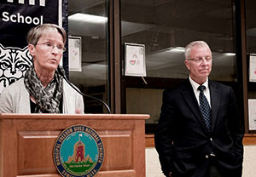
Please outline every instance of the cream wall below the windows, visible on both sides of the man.
M242 177L256 176L256 146L244 146ZM146 148L146 177L165 177L161 173L158 154L154 147Z

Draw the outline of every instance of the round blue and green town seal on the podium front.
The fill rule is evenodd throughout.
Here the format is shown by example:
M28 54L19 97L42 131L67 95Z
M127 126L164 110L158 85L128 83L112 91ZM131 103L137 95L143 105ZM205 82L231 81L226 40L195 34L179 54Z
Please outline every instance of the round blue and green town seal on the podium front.
M55 167L64 177L94 176L102 167L104 148L96 131L74 125L61 132L53 151Z

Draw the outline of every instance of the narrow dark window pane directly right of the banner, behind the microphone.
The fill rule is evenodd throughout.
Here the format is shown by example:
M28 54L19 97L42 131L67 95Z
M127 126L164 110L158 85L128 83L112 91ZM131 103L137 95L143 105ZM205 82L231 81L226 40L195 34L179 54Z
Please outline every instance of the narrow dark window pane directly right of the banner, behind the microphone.
M68 35L81 37L82 51L82 71L70 71L70 81L84 94L108 103L107 9L102 0L68 3ZM96 100L84 98L84 104L86 113L107 112Z

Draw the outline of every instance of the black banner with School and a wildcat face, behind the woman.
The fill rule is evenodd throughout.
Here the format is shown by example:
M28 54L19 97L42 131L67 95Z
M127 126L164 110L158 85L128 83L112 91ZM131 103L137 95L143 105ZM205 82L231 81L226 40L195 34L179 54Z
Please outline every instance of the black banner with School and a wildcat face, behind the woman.
M63 15L67 14L66 7L67 0L1 0L0 94L3 88L23 77L32 65L26 43L29 29L43 23L62 26L62 16L67 16ZM63 22L67 26L67 18Z

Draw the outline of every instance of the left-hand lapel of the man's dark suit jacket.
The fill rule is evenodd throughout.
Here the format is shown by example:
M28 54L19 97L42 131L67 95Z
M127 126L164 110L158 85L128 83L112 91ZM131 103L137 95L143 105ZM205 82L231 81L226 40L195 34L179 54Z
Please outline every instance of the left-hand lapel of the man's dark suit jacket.
M204 118L201 115L200 107L198 106L198 102L195 98L195 93L191 86L191 83L189 82L189 79L187 79L187 82L185 82L184 84L183 98L189 105L190 110L193 112L197 120L201 123L202 128L208 134L207 125L205 123Z

